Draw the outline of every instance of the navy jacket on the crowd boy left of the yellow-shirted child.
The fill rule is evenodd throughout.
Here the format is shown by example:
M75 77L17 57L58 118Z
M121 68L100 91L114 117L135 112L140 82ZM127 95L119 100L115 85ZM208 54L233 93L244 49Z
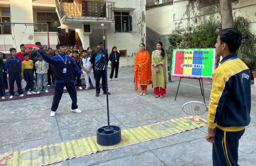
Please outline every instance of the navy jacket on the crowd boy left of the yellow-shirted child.
M21 58L7 58L6 68L8 69L8 74L10 75L21 75Z

